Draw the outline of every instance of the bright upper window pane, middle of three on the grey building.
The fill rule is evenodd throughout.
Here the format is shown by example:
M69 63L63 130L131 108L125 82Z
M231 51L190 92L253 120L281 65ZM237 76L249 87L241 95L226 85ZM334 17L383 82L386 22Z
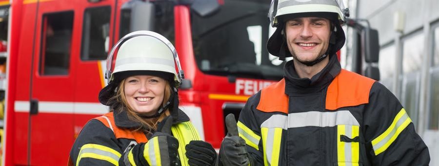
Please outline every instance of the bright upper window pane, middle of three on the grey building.
M420 70L424 54L423 43L424 36L422 33L404 39L402 55L402 70L404 73Z

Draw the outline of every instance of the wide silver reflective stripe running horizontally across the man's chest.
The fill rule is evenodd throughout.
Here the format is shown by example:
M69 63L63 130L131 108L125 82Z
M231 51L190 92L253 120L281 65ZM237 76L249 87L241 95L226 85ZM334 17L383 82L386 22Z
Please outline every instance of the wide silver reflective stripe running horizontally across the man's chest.
M359 126L357 119L350 111L334 112L299 112L286 115L273 115L264 121L260 127L264 128L301 128L307 126L334 127L337 125Z

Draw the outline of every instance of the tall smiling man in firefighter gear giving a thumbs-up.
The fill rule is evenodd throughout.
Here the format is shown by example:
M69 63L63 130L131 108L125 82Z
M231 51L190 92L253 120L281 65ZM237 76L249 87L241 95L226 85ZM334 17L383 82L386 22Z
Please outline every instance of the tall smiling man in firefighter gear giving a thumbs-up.
M270 54L284 78L250 97L220 147L225 166L427 166L428 148L398 99L341 69L341 0L273 0Z

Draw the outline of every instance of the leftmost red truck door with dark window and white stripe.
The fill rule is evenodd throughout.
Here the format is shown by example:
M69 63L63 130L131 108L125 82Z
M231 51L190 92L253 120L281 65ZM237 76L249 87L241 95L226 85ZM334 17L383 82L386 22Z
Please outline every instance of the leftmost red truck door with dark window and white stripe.
M75 70L71 61L72 55L78 55L73 43L79 42L73 42L74 11L41 13L30 71L28 164L54 166L66 164L71 147L65 145L74 139Z

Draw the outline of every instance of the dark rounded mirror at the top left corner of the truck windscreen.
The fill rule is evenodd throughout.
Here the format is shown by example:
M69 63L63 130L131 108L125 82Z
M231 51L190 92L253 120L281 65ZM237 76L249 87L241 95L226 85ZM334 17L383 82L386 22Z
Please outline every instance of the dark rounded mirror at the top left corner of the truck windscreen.
M201 17L209 16L220 9L218 0L193 0L191 9Z

